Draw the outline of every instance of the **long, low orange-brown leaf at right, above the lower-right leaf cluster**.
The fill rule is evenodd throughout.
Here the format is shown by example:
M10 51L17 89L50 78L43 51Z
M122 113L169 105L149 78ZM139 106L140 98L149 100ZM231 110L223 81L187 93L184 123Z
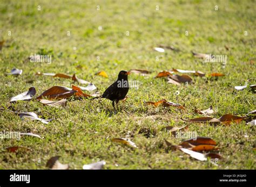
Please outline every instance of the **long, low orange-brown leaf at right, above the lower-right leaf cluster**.
M219 124L219 123L223 123L223 124L227 124L229 125L231 123L231 121L234 121L236 123L240 123L242 119L244 119L245 117L238 117L238 116L232 116L231 114L225 114L223 116L221 116L220 118L216 119L216 118L211 118L211 117L201 117L201 118L194 118L194 119L190 119L190 120L185 120L182 119L184 121L188 121L188 122L195 122L195 123L210 123L210 124Z

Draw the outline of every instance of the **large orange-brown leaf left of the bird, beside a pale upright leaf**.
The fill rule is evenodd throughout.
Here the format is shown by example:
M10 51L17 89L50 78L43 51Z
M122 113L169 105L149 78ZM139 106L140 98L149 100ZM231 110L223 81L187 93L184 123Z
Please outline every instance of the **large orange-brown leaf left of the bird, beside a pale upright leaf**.
M54 86L45 90L41 95L36 97L36 99L42 99L43 97L48 97L48 99L59 99L59 98L69 98L75 95L77 90L72 90L67 87Z

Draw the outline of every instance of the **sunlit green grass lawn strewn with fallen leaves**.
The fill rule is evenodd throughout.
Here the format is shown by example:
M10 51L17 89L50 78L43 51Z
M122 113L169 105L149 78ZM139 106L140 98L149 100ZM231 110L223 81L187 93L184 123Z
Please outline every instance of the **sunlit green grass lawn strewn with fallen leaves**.
M32 132L44 138L0 140L0 169L46 169L46 162L56 155L70 169L98 160L106 161L104 169L256 169L254 126L245 121L213 126L181 120L202 117L194 113L195 107L205 110L212 105L215 118L227 113L245 116L255 110L255 93L250 88L234 89L248 79L248 84L256 83L255 10L255 1L1 1L0 40L5 43L0 52L0 107L5 110L0 110L0 131ZM179 51L154 51L160 44ZM226 65L204 63L191 51L227 55ZM52 55L52 62L30 62L33 54ZM5 75L14 67L22 69L22 75ZM154 78L172 68L225 76L191 76L193 84L188 85ZM38 96L55 85L78 85L70 79L36 76L37 71L76 73L103 93L120 70L130 69L152 71L146 76L129 75L129 81L140 82L139 88L131 88L126 101L119 104L132 115L124 110L113 113L107 99L71 97L59 109L37 100L9 102L32 86ZM109 77L95 75L100 70ZM185 104L186 111L144 103L161 99ZM54 120L49 124L21 120L8 108ZM188 128L182 131L210 137L223 147L215 151L224 158L218 165L166 146L164 139L174 145L184 139L161 129L186 124ZM138 148L111 142L126 136ZM5 151L12 146L31 150Z

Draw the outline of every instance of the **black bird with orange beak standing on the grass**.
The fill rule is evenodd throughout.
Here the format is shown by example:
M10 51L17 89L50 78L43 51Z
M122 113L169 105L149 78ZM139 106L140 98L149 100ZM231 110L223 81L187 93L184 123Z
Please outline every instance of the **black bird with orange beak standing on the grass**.
M107 98L112 100L112 105L114 107L114 102L116 102L118 107L119 100L122 100L125 98L127 92L129 91L129 82L128 82L128 75L130 74L129 71L120 71L118 74L117 81L110 85L109 88L107 88L102 96L95 97L96 98ZM114 110L115 107L114 107Z

